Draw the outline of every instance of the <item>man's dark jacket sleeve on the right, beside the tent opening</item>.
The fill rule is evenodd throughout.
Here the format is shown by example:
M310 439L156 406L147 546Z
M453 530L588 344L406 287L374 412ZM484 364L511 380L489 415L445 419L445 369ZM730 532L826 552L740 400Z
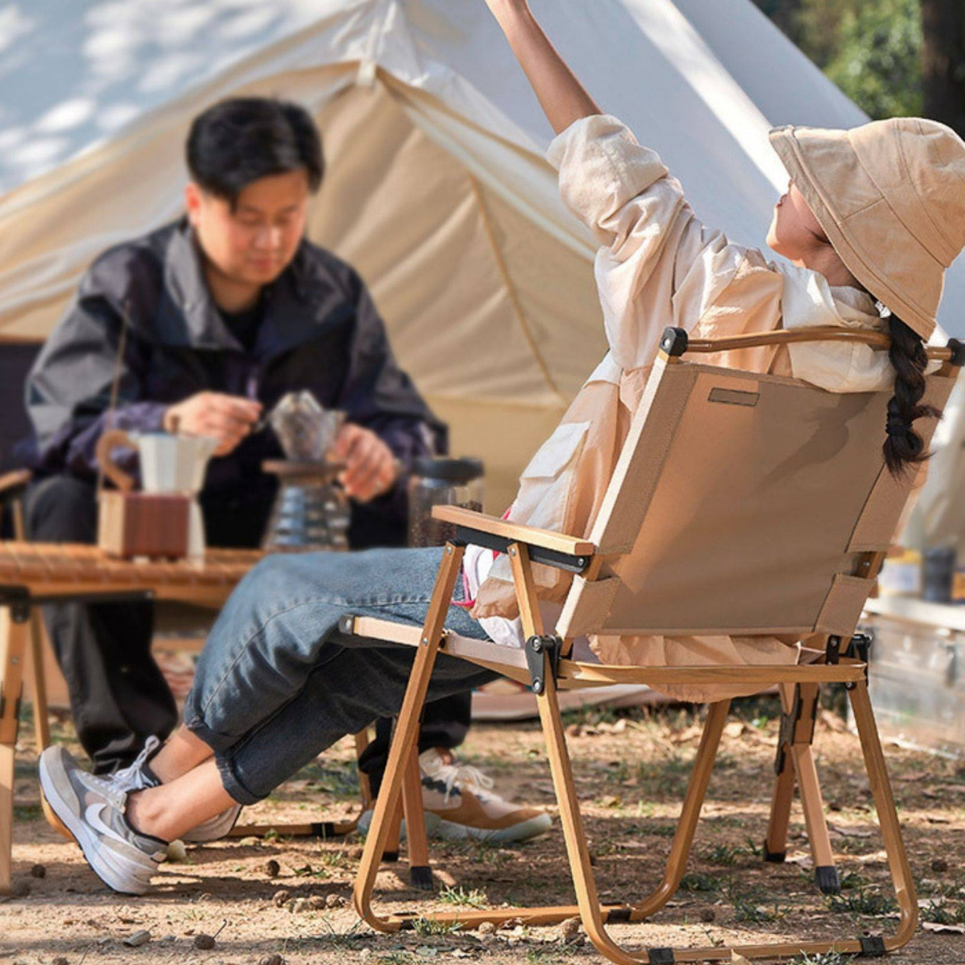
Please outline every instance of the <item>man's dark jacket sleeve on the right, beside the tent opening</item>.
M448 428L432 414L412 380L400 369L372 295L354 271L348 276L347 294L355 321L339 405L350 422L372 429L403 466L395 488L369 506L404 514L405 482L413 460L423 455L444 455L448 451Z

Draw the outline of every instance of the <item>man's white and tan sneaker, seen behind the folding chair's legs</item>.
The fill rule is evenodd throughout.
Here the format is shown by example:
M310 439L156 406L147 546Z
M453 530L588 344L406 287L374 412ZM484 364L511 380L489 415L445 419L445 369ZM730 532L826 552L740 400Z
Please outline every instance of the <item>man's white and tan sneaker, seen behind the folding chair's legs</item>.
M549 814L511 804L492 791L492 778L478 767L457 764L449 751L423 751L419 770L430 838L510 844L538 838L552 827ZM372 811L366 811L359 818L359 830L367 833L371 822Z

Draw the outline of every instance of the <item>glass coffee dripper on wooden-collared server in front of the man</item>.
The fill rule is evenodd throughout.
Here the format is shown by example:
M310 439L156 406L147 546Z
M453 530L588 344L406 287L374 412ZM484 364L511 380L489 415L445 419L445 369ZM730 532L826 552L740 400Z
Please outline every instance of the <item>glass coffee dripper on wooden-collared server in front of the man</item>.
M342 412L322 409L309 392L290 393L273 410L268 422L288 458L262 462L279 481L263 550L348 549L351 511L337 482L345 462L326 455L344 419Z

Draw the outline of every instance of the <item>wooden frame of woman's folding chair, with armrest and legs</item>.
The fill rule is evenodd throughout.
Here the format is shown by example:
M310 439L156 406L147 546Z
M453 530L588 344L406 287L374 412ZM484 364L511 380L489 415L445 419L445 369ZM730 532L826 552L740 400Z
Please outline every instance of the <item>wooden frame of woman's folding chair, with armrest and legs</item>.
M887 337L879 333L851 332L841 329L828 331L815 329L810 333L811 339L822 337L837 341L852 339L879 347L888 344ZM709 352L725 348L780 345L801 341L809 341L809 336L802 332L775 332L717 342L691 343L688 350ZM951 363L956 368L965 361L963 357L965 351L958 343L952 343L949 348L929 349L929 355ZM675 361L666 354L664 360ZM951 374L948 366L943 373ZM388 620L353 616L346 616L341 625L344 633L356 633L360 636L416 648L413 669L402 702L385 777L375 802L372 825L353 890L355 909L365 922L376 930L395 932L413 927L417 919L476 927L483 922L502 924L510 920L518 920L530 925L558 924L578 915L595 948L619 965L632 965L636 962L652 962L658 965L658 963L675 961L730 960L732 953L752 959L791 957L804 953L816 955L830 951L842 954L882 954L907 944L918 924L918 906L911 868L901 840L895 799L869 700L867 654L860 650L853 651L849 641L829 636L826 638L828 646L825 654L818 662L810 665L638 668L575 661L570 659L571 640L544 635L532 564L540 562L563 565L564 568L576 569L593 578L602 564L593 543L586 539L537 530L469 510L446 507L437 508L433 514L437 518L455 523L456 535L453 541L446 544L445 555L439 568L424 625L420 628ZM445 629L444 621L452 599L464 548L470 542L502 548L509 556L523 637L527 641L524 651L456 637ZM884 555L884 553L868 554L867 558L859 564L862 574L869 577L876 576L883 563ZM575 905L389 915L380 915L372 907L379 861L394 834L400 796L405 794L406 777L416 753L419 715L425 703L432 667L440 652L461 657L504 676L533 685L537 693L539 720L546 740L553 785L560 808L566 853L576 892ZM858 655L855 655L855 652ZM801 789L809 835L812 838L815 866L818 869L818 884L824 891L835 890L837 875L834 872L816 769L811 754L813 714L819 685L843 683L854 713L895 888L900 914L896 931L887 936L861 936L833 941L648 949L637 952L627 951L614 941L607 932L607 924L642 922L664 907L676 892L694 840L703 798L730 707L730 701L710 705L690 783L677 822L671 853L661 881L648 896L640 901L601 905L597 896L590 852L573 781L572 765L566 748L557 692L561 688L572 686L593 686L614 682L647 683L657 686L668 683L737 685L752 683L759 684L761 689L778 684L786 715L786 727L782 729L778 778L765 839L764 857L771 861L783 859L790 801L796 778ZM411 822L409 827L412 827ZM425 861L423 847L424 842L417 843L414 862L419 865L423 865Z

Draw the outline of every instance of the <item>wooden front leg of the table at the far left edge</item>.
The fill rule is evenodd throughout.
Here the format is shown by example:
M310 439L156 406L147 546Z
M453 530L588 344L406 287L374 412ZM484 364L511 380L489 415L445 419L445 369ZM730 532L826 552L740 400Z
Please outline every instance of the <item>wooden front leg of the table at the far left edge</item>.
M0 607L0 895L9 895L14 848L14 755L29 612Z

